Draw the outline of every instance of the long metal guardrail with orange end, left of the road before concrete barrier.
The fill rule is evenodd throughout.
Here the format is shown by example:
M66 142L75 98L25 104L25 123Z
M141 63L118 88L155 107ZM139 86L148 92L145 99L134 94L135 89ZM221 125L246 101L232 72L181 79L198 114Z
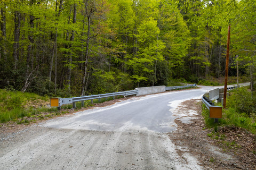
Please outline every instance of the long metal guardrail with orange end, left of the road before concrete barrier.
M91 100L91 103L93 103L93 99L100 100L101 98L108 98L108 97L113 97L113 99L115 99L115 96L131 96L131 95L137 95L138 93L139 93L139 90L130 90L130 91L122 91L122 92L113 92L111 94L81 96L81 97L72 97L72 98L51 98L51 106L60 107L66 104L73 104L73 108L75 108L76 102L82 101L82 107L83 107L85 100Z

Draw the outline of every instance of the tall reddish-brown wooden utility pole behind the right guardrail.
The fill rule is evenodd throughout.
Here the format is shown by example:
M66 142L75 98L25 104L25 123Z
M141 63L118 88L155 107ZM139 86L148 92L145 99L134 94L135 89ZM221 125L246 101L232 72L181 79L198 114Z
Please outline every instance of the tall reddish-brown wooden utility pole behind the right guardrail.
M227 85L228 85L228 61L229 61L229 41L230 41L230 24L228 25L228 41L227 41L227 56L226 56L226 71L225 71L225 86L223 94L223 108L226 108Z

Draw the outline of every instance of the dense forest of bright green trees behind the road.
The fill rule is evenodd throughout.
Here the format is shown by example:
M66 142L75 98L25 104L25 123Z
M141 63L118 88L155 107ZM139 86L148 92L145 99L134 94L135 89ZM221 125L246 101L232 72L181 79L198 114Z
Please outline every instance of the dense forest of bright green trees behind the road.
M256 0L1 0L0 89L83 96L255 81Z

